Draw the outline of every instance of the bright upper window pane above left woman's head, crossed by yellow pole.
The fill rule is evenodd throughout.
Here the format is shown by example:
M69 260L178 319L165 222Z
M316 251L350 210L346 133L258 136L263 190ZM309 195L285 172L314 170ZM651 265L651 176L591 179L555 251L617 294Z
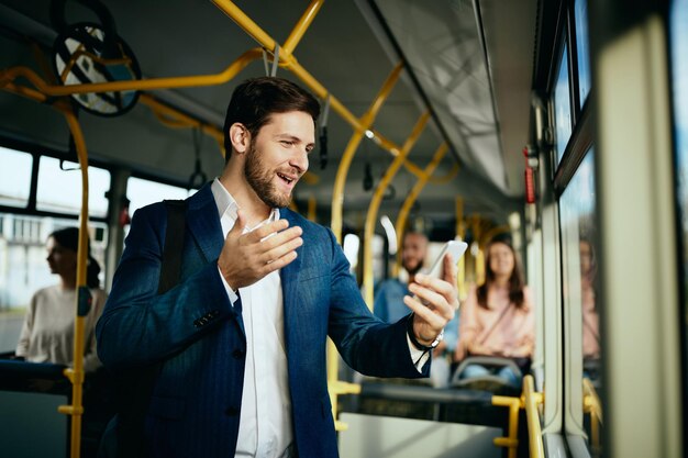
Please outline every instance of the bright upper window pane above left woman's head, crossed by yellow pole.
M41 157L38 168L38 190L36 209L57 213L79 214L81 211L81 171L79 165L59 159ZM104 217L108 214L106 192L110 190L110 172L89 166L88 168L88 211L90 216Z

